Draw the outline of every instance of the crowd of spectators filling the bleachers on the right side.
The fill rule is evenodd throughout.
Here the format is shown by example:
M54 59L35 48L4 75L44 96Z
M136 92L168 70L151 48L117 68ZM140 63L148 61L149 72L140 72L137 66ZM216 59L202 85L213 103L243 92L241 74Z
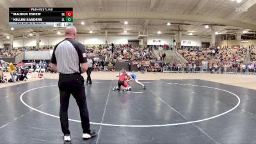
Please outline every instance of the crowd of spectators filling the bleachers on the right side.
M156 48L161 58L164 58L163 48ZM177 48L180 55L188 63L163 63L163 71L169 72L232 72L232 73L255 73L256 52L250 54L251 62L244 63L248 49L245 47L214 47L214 49L199 49L199 47ZM202 61L207 61L207 68L204 68Z

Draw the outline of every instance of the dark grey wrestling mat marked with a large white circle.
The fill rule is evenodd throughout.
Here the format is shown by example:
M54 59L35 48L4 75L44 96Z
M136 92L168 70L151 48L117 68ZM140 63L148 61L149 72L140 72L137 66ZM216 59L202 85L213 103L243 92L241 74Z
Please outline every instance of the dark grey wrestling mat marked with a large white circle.
M57 79L0 88L0 143L63 143ZM200 79L142 81L131 92L112 91L116 80L86 86L91 127L81 138L71 97L70 143L256 143L255 90Z

